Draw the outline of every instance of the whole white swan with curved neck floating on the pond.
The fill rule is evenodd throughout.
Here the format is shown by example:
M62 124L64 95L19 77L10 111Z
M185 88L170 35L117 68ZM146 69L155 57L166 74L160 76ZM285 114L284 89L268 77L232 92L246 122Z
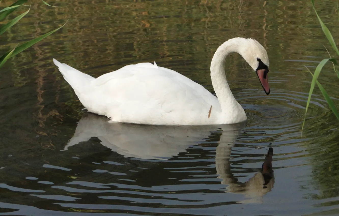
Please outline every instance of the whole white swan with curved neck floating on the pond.
M223 43L211 62L211 79L218 98L180 73L154 62L127 65L98 78L53 59L82 105L113 122L149 125L234 124L246 114L227 84L224 64L238 52L256 71L266 94L268 56L254 39L233 38Z

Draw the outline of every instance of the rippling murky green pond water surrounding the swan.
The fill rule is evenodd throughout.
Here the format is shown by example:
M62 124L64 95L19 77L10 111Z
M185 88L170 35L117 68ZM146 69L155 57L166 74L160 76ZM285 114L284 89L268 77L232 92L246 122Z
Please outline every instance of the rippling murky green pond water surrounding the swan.
M34 1L1 36L8 50L69 19L0 69L0 215L339 214L339 124L317 88L300 132L305 66L327 58L323 44L331 50L309 1L48 2L62 8ZM339 40L334 2L316 6ZM109 124L81 111L52 62L98 77L155 60L213 91L214 51L237 36L270 57L268 96L239 55L227 59L245 125ZM320 82L338 104L331 65Z

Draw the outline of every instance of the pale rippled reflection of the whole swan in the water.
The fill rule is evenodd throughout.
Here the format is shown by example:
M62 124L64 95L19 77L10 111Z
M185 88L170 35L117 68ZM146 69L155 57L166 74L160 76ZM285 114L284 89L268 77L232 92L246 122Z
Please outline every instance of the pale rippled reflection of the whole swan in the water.
M104 116L85 113L78 122L74 136L65 148L98 137L101 144L125 157L142 159L169 159L186 152L191 145L198 145L212 133L220 135L216 148L216 170L221 183L227 185L227 193L243 194L241 203L262 202L262 196L270 192L274 184L272 170L273 148L269 148L261 171L241 183L234 177L230 157L232 147L245 123L206 126L155 126L109 123Z

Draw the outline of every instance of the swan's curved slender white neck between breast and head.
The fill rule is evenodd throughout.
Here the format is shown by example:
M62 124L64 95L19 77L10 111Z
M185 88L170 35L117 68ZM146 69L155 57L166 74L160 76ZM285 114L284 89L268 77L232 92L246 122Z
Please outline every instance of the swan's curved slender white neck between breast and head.
M232 39L226 41L221 46L219 46L217 51L214 53L211 62L212 85L215 93L217 94L223 113L235 112L241 108L239 103L235 100L230 86L228 86L225 75L225 59L231 52L239 53L238 44L239 43L235 43L235 41Z

